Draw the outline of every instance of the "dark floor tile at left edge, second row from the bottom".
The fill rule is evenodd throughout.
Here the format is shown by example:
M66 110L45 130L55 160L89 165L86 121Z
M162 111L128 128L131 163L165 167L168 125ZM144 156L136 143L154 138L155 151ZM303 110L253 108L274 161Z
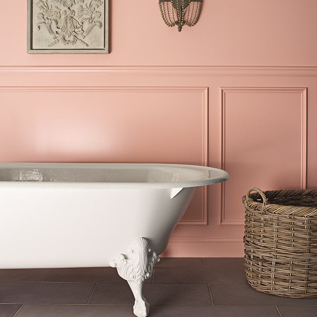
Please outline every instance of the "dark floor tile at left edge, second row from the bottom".
M87 304L94 283L0 283L0 303Z

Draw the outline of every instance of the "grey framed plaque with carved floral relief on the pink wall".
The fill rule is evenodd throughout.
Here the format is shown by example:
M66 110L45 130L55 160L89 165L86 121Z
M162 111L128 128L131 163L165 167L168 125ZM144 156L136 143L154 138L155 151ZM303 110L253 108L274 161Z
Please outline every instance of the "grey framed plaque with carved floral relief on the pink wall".
M108 0L28 0L28 53L108 53Z

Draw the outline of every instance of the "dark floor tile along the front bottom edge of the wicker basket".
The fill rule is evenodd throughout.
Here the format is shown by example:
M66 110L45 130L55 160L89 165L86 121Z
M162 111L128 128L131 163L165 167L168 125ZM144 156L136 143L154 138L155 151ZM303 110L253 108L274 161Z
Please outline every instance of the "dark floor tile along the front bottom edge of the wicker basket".
M210 288L214 305L317 305L317 298L264 294L248 284L210 284Z

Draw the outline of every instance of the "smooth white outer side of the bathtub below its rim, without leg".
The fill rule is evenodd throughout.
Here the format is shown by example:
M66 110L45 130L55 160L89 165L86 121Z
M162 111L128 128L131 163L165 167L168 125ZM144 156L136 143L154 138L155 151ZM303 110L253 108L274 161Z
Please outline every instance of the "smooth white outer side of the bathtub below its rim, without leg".
M160 254L195 188L0 189L0 268L109 266L139 237Z

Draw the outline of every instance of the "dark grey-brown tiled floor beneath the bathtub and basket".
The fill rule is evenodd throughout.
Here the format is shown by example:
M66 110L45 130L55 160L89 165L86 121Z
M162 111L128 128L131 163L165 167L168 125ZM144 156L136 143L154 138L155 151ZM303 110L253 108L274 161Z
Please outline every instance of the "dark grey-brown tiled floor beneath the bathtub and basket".
M317 298L251 288L242 258L162 258L144 285L151 317L316 317ZM0 317L133 317L116 269L0 270Z

